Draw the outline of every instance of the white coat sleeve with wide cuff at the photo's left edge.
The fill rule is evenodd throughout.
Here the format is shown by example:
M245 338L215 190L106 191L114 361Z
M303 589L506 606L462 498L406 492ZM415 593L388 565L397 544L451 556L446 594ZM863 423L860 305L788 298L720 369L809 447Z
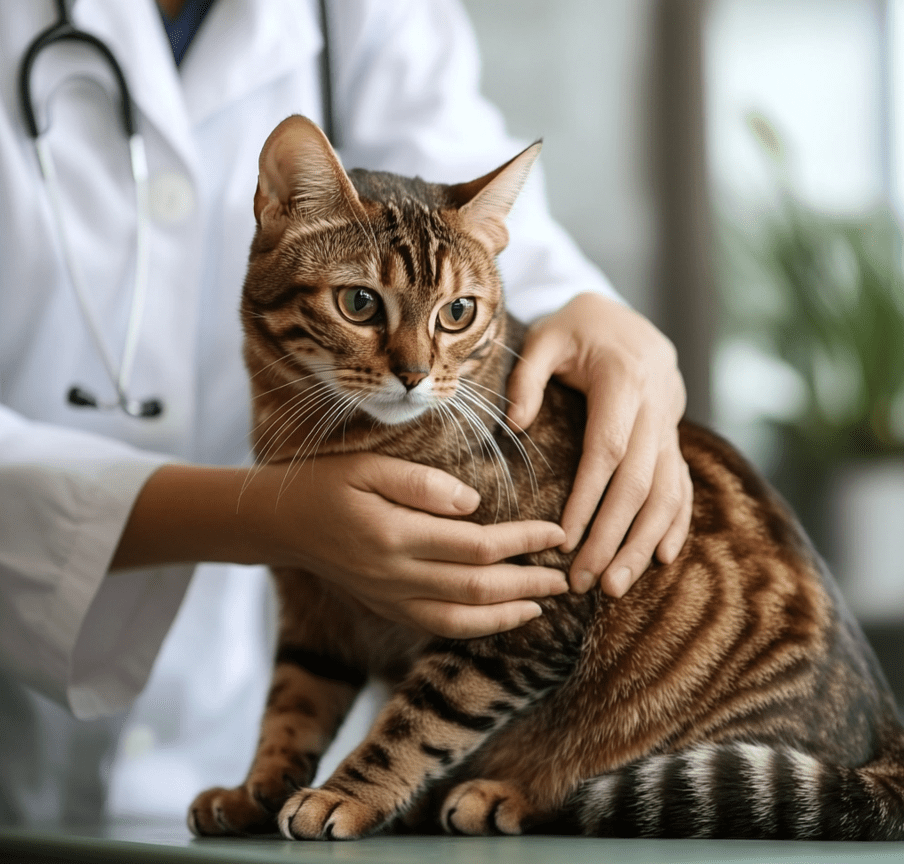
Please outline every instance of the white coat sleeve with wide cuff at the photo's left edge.
M81 719L137 696L187 588L186 567L107 574L167 461L0 405L0 663Z

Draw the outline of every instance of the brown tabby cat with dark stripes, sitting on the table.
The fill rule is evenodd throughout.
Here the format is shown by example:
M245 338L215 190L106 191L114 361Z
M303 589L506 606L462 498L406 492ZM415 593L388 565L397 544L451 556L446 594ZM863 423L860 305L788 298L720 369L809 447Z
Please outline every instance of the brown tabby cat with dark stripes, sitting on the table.
M475 486L478 522L559 519L583 397L550 382L529 440L498 395L524 328L494 257L538 151L442 186L346 174L310 121L277 127L242 306L259 460L379 451ZM404 816L465 834L904 838L904 734L830 577L734 450L690 424L681 444L690 536L621 600L565 594L509 633L428 639L275 572L257 755L243 785L197 798L192 831L356 838ZM304 788L369 675L391 700Z

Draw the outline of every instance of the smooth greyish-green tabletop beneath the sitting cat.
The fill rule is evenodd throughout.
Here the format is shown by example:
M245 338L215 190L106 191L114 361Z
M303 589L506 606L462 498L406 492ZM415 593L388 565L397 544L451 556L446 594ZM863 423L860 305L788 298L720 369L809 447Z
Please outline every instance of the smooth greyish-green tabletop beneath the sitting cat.
M823 864L901 861L902 843L794 843L741 840L593 840L579 837L377 837L306 843L276 837L196 839L176 822L0 828L0 862L162 864L162 862L310 862L310 864Z

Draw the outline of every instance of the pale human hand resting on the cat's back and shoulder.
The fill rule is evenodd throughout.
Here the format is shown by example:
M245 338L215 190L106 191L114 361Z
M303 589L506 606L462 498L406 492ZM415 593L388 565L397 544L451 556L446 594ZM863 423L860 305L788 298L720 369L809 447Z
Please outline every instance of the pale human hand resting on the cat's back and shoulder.
M627 306L581 294L528 330L509 378L512 426L534 421L551 375L587 397L584 450L562 514L565 551L578 545L599 505L572 562L571 587L583 593L599 579L607 594L621 597L654 552L674 561L690 527L693 487L677 432L685 390L675 349Z

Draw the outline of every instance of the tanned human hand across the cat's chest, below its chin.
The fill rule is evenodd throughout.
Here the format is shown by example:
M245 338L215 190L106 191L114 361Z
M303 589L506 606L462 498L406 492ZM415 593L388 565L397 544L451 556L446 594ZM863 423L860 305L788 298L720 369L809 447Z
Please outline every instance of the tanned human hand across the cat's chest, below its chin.
M558 570L499 563L560 545L558 525L443 518L471 513L480 500L449 474L372 453L288 470L260 469L244 493L257 503L243 507L266 514L258 528L266 563L303 567L379 615L471 638L525 624L541 613L528 598L568 590Z

